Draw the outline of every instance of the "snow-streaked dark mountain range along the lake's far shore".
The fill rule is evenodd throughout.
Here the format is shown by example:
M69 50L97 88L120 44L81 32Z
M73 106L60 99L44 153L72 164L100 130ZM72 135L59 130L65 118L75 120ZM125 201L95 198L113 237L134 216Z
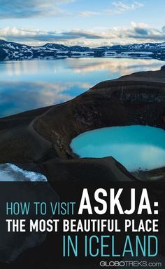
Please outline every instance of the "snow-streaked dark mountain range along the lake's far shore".
M153 58L165 60L164 43L129 44L89 48L47 43L43 46L27 46L0 40L0 60L55 59L55 58Z

